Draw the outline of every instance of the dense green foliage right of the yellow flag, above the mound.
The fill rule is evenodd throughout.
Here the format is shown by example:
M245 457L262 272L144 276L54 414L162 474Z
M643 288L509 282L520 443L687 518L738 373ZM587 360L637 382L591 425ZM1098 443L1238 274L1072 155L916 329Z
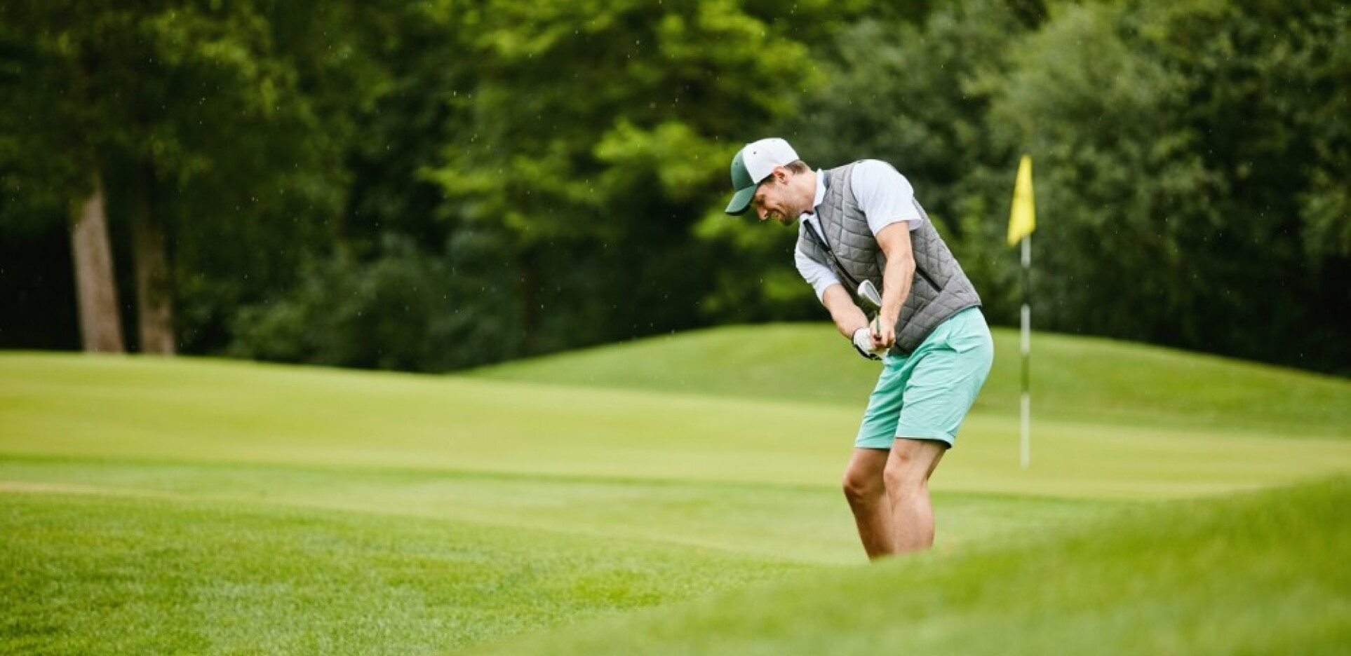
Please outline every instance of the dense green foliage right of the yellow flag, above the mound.
M1347 16L1329 3L1088 4L1019 49L990 124L1038 155L1043 325L1344 362L1324 309L1346 298L1328 285L1347 252L1327 232L1342 201L1325 185L1344 128L1308 120L1347 100L1335 59L1308 62Z

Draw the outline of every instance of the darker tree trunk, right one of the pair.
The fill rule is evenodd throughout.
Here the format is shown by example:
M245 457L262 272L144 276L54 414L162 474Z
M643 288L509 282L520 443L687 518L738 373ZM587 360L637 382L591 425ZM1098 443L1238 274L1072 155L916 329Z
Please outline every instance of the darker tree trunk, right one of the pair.
M173 355L173 302L165 229L154 212L154 178L146 175L131 220L131 247L136 266L136 317L141 352Z

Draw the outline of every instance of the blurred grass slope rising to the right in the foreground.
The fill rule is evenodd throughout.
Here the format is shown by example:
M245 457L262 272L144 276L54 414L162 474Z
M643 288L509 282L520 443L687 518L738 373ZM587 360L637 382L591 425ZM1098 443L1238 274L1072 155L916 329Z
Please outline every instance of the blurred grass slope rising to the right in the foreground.
M478 656L1344 655L1351 481L742 589Z

